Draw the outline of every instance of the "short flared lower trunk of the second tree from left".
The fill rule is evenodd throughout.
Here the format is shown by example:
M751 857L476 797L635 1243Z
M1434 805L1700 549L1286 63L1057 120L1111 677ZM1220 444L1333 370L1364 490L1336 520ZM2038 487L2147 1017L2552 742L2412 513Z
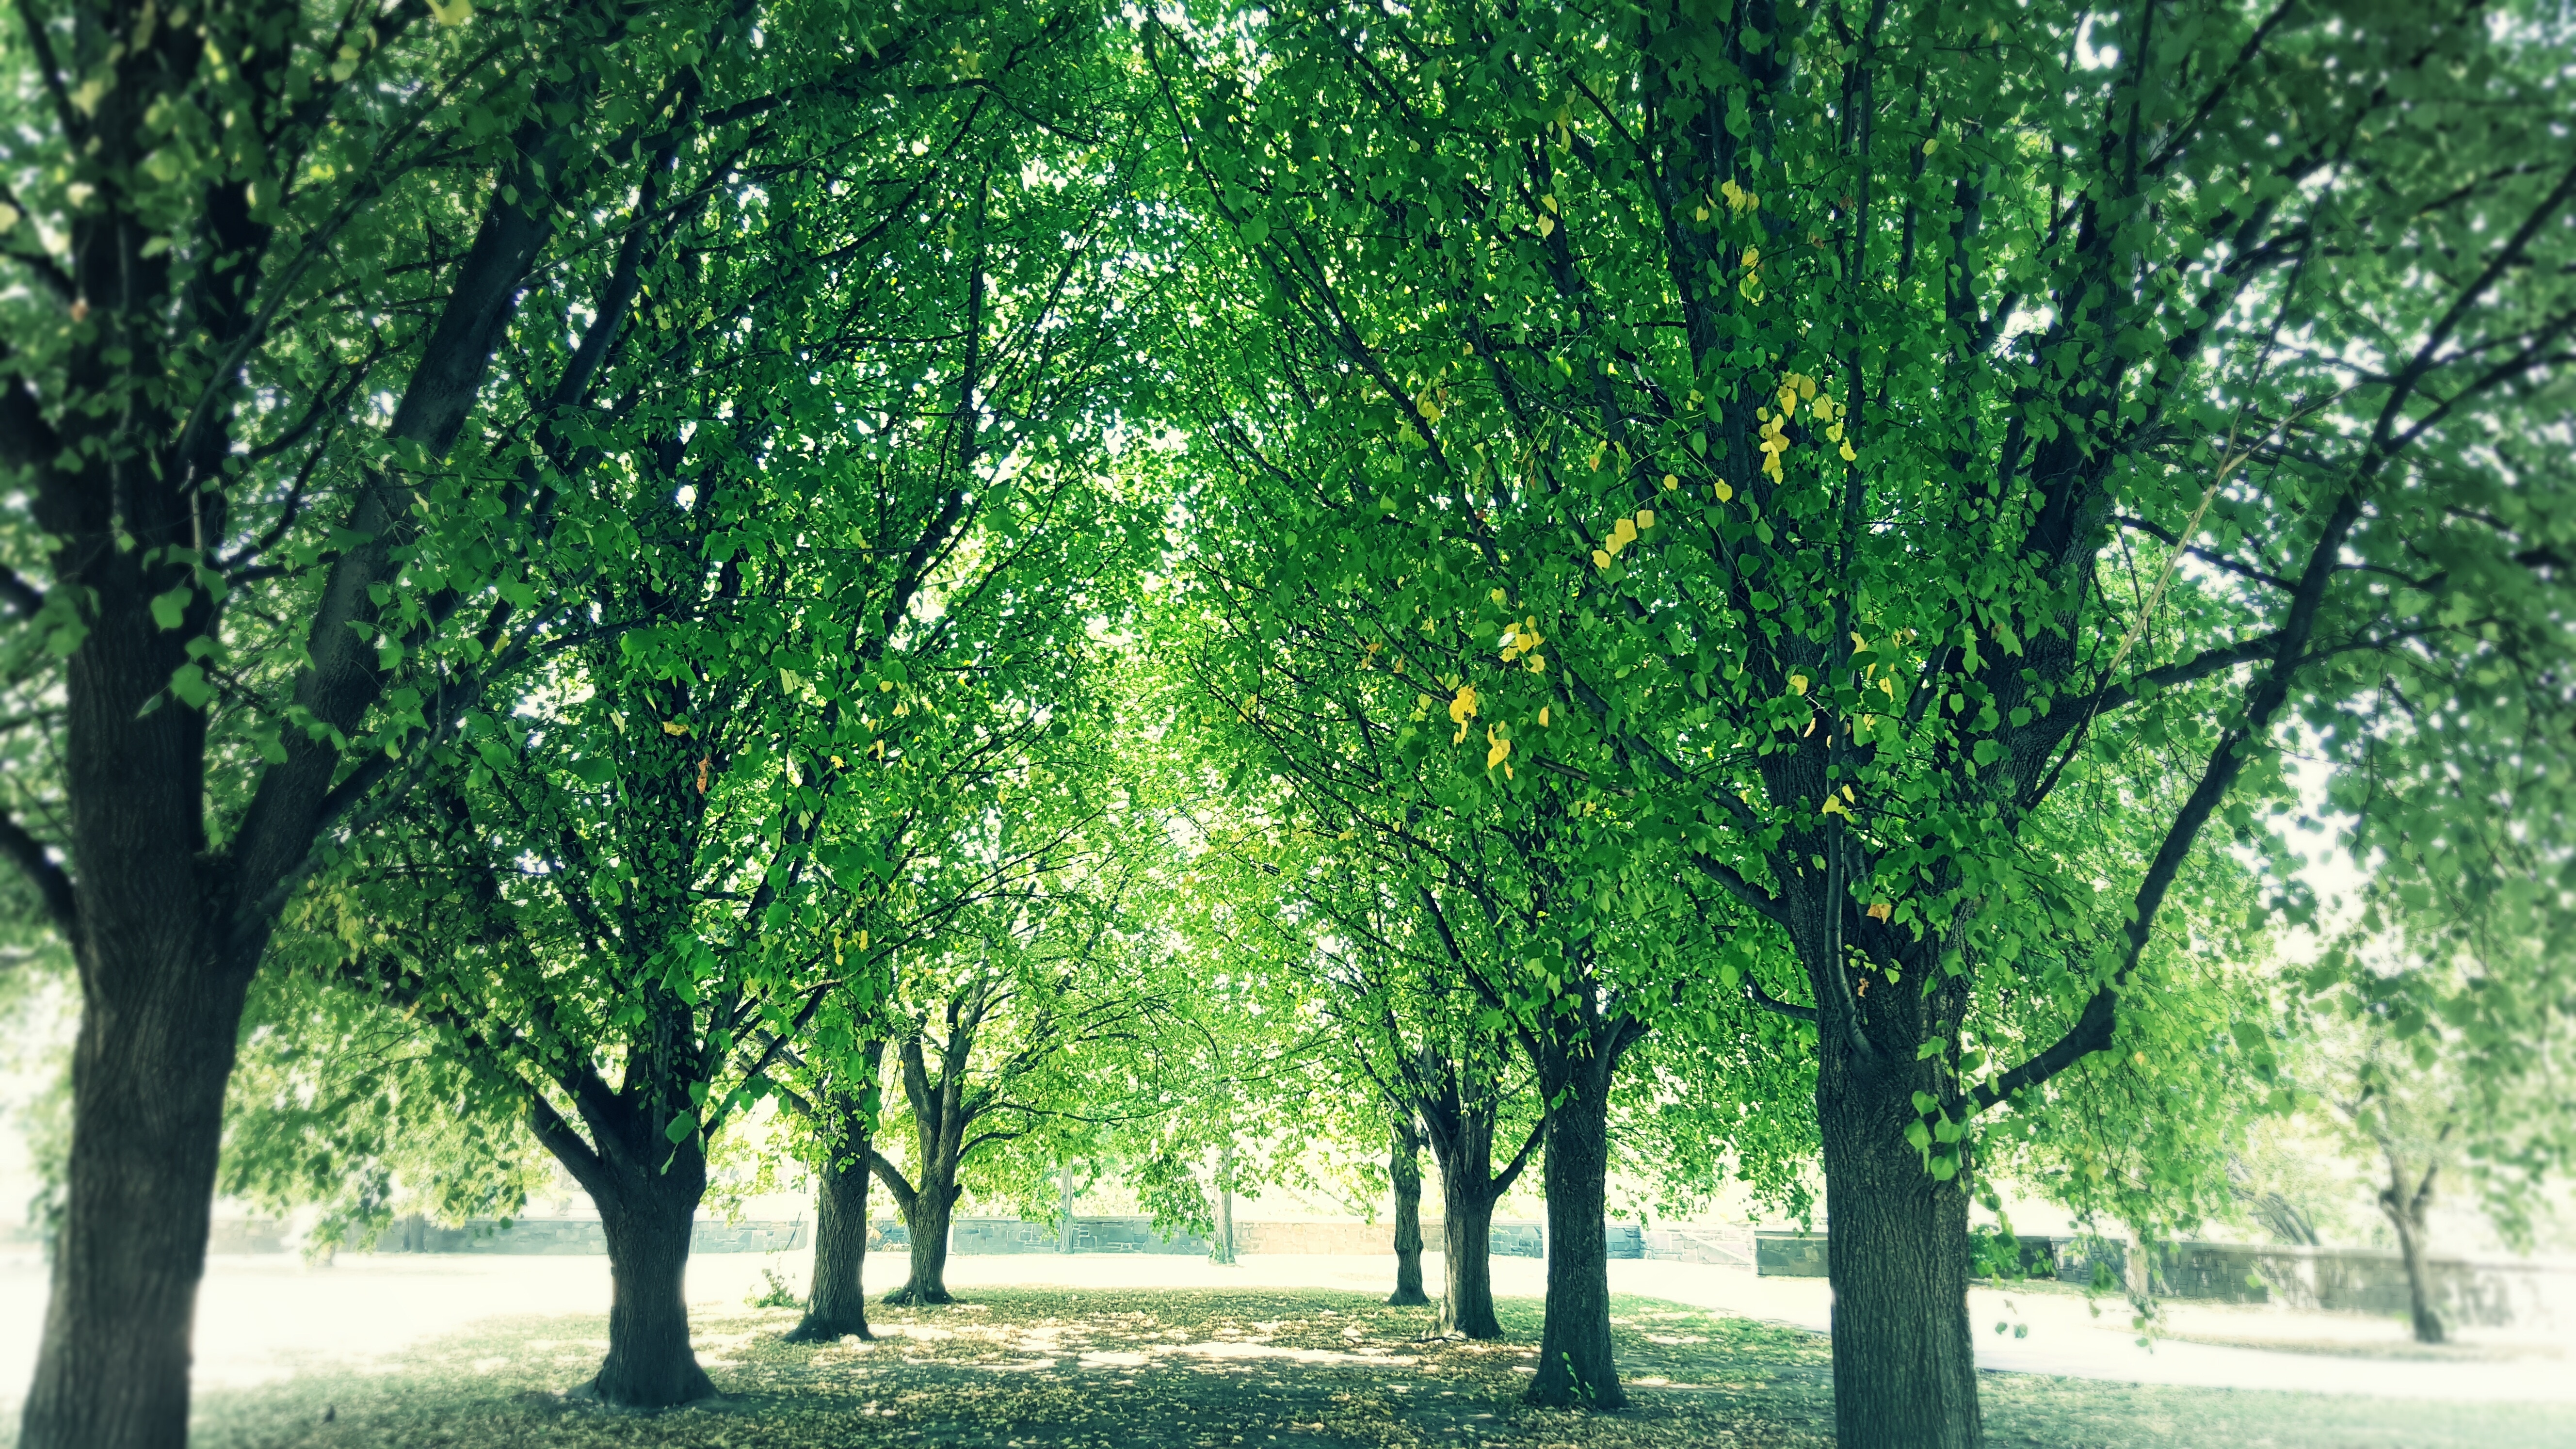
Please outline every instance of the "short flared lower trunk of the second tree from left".
M670 1408L714 1397L716 1385L688 1346L688 1230L703 1173L652 1176L600 1199L608 1238L608 1359L592 1390L603 1403Z

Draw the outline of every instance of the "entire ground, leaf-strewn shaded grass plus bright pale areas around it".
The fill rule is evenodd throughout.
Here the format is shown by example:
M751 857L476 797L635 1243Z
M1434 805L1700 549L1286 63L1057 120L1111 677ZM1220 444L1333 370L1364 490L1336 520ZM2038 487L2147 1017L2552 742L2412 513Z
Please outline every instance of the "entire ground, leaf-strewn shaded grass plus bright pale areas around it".
M1440 1281L1437 1256L1425 1263ZM871 1279L899 1263L871 1258ZM729 1395L667 1415L564 1390L605 1348L608 1263L582 1256L216 1256L198 1294L198 1449L891 1446L891 1449L1613 1449L1829 1444L1821 1279L1613 1261L1615 1418L1517 1405L1543 1266L1497 1258L1512 1338L1425 1343L1386 1310L1386 1256L963 1256L951 1310L878 1310L871 1348L791 1348L765 1274L806 1253L690 1261L698 1351ZM2125 1307L2050 1284L1973 1289L1991 1441L2004 1449L2576 1449L2576 1323L2468 1330L2445 1359L2396 1320L2169 1305L2141 1346ZM44 1263L0 1256L0 1449L44 1318ZM2566 1318L2561 1312L2561 1318ZM2306 1348L2285 1354L2280 1348ZM1654 1382L1664 1379L1664 1382ZM2293 1390L2293 1392L2282 1392Z

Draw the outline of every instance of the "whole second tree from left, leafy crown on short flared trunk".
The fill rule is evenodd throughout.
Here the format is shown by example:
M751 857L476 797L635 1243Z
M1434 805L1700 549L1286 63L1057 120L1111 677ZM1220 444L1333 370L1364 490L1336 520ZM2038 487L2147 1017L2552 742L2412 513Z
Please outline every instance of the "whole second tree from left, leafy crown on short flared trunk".
M384 830L363 887L404 941L353 941L350 985L518 1085L600 1207L611 1403L711 1392L680 1294L706 1155L842 972L902 946L863 920L894 915L876 825L920 807L909 745L945 745L981 676L1064 683L1061 650L1015 670L958 652L1061 645L976 632L979 596L1087 521L1056 518L1087 446L1061 397L1105 356L1056 325L1097 273L1066 229L1084 193L1030 183L1025 121L984 101L1025 90L1043 116L1092 41L1061 21L969 21L961 41L1012 64L886 116L868 139L891 175L848 186L819 160L848 142L809 134L814 165L729 196L652 271L654 309L703 330L621 374L592 436L613 467L587 549L554 549L592 629L515 712L464 724L471 755ZM948 307L961 327L925 325ZM1066 536L1023 549L1033 521Z

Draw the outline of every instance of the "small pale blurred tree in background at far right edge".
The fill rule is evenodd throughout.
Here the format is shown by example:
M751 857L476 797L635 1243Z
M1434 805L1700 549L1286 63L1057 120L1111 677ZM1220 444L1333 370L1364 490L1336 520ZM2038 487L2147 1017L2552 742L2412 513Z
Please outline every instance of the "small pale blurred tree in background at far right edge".
M2383 730L2347 848L2383 853L2360 915L2311 967L2321 990L2298 1057L2306 1085L2378 1176L2372 1207L2406 1263L2419 1343L2445 1325L2429 1212L2460 1196L2530 1248L2532 1204L2576 1163L2576 835L2571 701L2494 748L2427 748Z

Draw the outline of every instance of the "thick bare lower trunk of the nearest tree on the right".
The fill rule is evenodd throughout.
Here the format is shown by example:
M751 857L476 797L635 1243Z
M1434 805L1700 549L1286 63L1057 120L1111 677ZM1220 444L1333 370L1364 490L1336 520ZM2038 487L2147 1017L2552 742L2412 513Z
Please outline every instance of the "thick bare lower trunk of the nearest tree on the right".
M1855 1073L1829 1055L1824 1129L1826 1271L1834 1281L1834 1423L1842 1444L1976 1449L1965 1173L1937 1181L1906 1142L1914 1078Z

